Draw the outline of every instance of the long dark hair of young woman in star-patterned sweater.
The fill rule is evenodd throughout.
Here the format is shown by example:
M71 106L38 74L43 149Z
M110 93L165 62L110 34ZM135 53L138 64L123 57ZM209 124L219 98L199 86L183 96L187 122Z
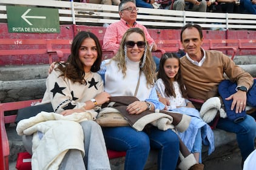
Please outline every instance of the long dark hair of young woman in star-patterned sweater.
M78 34L76 34L75 38L73 39L71 45L71 54L69 55L67 61L64 63L57 63L58 67L56 68L56 70L62 72L60 76L64 76L64 78L67 77L67 79L72 80L72 82L79 82L82 84L86 83L86 80L84 80L84 75L86 73L84 73L83 64L79 59L79 48L81 47L81 44L83 43L84 39L87 38L92 38L95 41L98 52L97 59L92 65L90 71L99 71L102 59L102 50L101 44L99 43L99 39L93 33L87 31L80 31Z

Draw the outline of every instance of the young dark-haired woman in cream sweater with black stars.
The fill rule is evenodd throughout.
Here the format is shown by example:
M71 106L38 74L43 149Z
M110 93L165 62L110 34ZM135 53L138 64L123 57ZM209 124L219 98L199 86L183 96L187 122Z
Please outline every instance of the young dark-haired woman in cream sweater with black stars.
M103 80L96 73L101 65L101 55L101 45L95 34L79 32L73 39L67 62L56 63L49 74L42 103L51 102L55 113L67 117L74 113L93 113L97 105L109 101L110 95L103 91ZM77 149L69 149L59 169L110 169L101 127L92 120L80 122L80 125L83 128L85 155ZM41 133L41 136L42 141L46 135ZM62 136L69 139L70 134L58 134L58 137ZM76 139L69 140L75 142ZM33 154L32 136L24 136L23 142Z

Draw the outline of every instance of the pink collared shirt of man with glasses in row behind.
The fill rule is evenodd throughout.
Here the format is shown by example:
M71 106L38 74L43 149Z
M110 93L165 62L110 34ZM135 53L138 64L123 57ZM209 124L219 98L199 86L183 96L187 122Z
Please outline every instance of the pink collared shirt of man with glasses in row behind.
M133 26L130 27L127 22L124 21L124 19L120 19L120 21L112 23L109 25L109 27L107 27L106 33L104 34L103 38L103 50L118 51L124 33L129 28L134 27L141 28L144 31L148 44L151 45L153 42L155 42L147 32L147 28L143 25L139 24L138 22L134 22Z

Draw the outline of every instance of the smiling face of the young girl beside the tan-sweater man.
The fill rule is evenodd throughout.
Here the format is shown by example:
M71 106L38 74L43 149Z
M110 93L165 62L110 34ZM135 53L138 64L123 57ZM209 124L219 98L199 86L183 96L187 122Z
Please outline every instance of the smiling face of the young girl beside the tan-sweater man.
M164 73L172 81L175 80L175 76L177 75L179 68L179 60L176 58L169 58L164 62Z

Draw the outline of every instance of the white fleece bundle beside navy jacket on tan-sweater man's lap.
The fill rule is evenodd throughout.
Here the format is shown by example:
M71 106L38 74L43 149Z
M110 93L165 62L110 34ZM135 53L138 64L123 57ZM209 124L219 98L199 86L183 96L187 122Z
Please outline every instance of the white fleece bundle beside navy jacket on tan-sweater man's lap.
M223 108L221 108L220 98L211 97L207 99L201 106L200 117L204 120L204 122L209 123L214 120L214 117L218 111L220 111L220 117L227 117L226 112L223 110Z

